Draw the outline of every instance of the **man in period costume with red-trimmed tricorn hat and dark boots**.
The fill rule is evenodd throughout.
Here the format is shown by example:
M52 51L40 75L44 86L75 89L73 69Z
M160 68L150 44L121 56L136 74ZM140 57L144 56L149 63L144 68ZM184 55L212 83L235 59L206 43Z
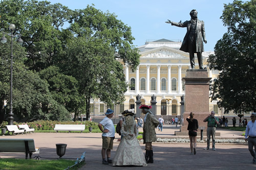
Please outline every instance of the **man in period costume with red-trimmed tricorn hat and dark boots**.
M159 125L159 121L150 110L152 106L141 105L139 108L145 114L143 126L143 143L146 144L145 159L147 163L154 163L152 142L157 140L155 128Z

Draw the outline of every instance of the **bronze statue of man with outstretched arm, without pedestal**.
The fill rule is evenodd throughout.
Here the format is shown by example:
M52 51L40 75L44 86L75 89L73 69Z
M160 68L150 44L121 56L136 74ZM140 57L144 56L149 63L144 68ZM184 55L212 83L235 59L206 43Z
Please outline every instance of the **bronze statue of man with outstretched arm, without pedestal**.
M185 22L178 23L168 20L166 23L172 23L172 26L187 28L187 33L183 39L180 50L189 53L191 69L195 69L195 53L197 53L199 68L203 69L203 41L207 43L205 38L204 21L197 18L196 10L192 10L189 14L191 19Z

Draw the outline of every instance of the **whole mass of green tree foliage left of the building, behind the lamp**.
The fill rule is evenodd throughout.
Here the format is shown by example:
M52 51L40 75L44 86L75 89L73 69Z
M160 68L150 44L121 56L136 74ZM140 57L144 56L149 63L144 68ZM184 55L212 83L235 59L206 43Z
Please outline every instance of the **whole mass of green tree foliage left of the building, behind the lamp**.
M139 54L131 27L115 14L35 0L3 0L0 8L1 30L9 33L14 23L14 34L24 40L23 46L13 46L15 115L59 120L86 112L88 119L91 98L109 106L124 100L127 84L120 62L134 69ZM4 101L9 107L10 40L0 45L0 52L3 115Z

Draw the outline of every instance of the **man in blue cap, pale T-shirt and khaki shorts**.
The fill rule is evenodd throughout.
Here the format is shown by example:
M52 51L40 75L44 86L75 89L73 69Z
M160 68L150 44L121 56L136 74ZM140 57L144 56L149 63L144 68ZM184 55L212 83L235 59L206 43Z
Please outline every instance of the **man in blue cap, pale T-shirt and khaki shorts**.
M98 127L102 132L102 149L101 149L102 164L109 164L109 163L112 163L112 160L110 159L110 157L111 157L111 150L113 149L113 140L115 138L115 127L111 120L111 118L114 115L114 111L111 109L108 109L106 110L105 115L106 117L103 118L103 120L101 120L101 122L98 124ZM104 127L104 129L102 126Z

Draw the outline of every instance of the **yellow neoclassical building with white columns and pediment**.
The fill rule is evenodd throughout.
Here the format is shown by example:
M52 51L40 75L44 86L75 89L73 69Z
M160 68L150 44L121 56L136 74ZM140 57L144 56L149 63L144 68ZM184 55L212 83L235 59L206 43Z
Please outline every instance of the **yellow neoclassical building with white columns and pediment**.
M157 102L157 115L180 115L180 109L175 106L180 105L181 96L185 94L182 78L185 77L186 70L191 69L189 53L179 50L181 43L181 40L148 40L138 47L140 64L137 69L132 71L129 66L123 64L125 80L128 84L132 84L132 87L128 87L124 93L124 103L113 108L117 113L133 108L136 112L138 94L141 96L141 104L150 105L151 96L154 94ZM208 77L214 80L219 72L206 67L210 54L214 53L203 53L203 65L208 71ZM199 69L197 57L195 61L196 69ZM102 102L95 100L92 103L94 103L95 114L104 112ZM216 104L216 102L210 104Z

